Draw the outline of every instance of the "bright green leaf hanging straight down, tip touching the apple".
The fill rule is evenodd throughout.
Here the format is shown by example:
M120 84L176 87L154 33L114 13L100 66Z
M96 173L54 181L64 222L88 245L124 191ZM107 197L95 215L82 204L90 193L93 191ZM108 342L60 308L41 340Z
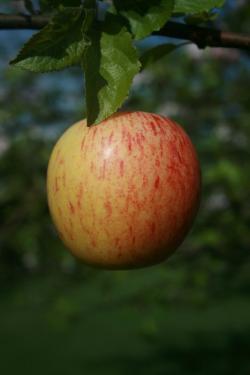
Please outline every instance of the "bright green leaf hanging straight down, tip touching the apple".
M128 95L140 69L132 35L108 14L89 34L91 45L84 55L88 125L112 115Z

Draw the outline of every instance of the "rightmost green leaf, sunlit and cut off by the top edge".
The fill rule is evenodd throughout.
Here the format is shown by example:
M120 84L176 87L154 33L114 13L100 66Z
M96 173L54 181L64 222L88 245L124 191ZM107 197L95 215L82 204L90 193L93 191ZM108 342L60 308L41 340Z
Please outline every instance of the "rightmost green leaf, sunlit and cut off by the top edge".
M174 13L209 12L213 8L221 8L225 0L175 0Z

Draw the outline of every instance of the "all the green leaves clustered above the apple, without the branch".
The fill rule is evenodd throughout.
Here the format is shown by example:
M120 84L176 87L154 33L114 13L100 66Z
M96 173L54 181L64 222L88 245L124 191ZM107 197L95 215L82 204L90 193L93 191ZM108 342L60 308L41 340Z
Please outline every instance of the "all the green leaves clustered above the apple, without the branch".
M140 66L133 41L160 30L172 14L198 15L196 22L197 19L198 22L209 20L209 12L221 7L224 1L114 0L112 7L109 3L103 16L100 11L103 4L95 0L41 1L42 11L57 12L12 61L18 67L34 72L80 65L85 73L89 125L113 114L126 99ZM186 20L190 22L190 19ZM147 52L147 61L155 61L172 50L171 44L165 49L159 47L157 52L151 49ZM125 74L127 64L128 73ZM115 90L111 95L109 88L114 87L114 83Z

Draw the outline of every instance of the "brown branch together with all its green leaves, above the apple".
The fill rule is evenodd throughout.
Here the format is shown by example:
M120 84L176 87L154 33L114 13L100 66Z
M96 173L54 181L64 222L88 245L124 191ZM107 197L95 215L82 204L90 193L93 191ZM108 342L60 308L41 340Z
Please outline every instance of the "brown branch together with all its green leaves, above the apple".
M80 66L89 125L104 120L122 106L136 74L187 41L200 48L248 49L250 44L248 37L197 26L211 25L224 0L15 3L22 3L23 16L2 16L1 28L42 29L25 43L11 64L38 73ZM161 43L145 43L151 35L182 42L165 38Z

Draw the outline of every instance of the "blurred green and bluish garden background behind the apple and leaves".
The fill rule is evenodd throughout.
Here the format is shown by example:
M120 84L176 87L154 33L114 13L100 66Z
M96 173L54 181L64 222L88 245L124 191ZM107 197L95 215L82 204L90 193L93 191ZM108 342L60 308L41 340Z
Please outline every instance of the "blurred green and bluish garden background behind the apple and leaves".
M247 3L218 25L250 33ZM71 257L46 204L53 144L84 116L81 72L10 68L30 35L0 34L0 373L250 374L249 54L188 45L136 77L125 108L183 125L202 203L167 262L102 271Z

